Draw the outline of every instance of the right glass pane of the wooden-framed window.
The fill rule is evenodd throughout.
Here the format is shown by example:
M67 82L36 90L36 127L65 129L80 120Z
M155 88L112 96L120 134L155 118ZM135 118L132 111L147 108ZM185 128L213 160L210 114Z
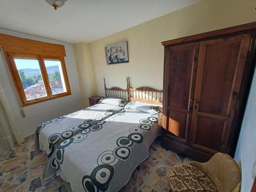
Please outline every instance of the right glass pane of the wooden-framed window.
M45 59L45 66L50 81L52 94L56 95L67 92L60 60Z

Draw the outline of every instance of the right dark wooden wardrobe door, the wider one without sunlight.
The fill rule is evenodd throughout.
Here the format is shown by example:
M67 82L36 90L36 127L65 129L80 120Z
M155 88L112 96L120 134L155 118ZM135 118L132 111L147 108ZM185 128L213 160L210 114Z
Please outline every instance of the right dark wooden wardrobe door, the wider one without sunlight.
M200 42L190 146L227 151L250 40L243 34Z

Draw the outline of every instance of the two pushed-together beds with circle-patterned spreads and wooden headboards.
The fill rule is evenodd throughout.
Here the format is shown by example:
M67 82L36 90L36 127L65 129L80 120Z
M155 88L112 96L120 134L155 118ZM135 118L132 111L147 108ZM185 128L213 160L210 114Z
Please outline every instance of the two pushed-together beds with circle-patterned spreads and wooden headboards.
M131 88L130 78L126 81L127 90L123 90L106 88L104 79L106 98L132 101L125 109L116 103L100 103L37 127L36 154L48 153L42 179L57 174L70 182L73 191L116 191L126 184L161 134L161 108L141 102L161 104L163 94L149 87ZM101 174L102 170L106 172ZM99 175L108 179L97 180Z

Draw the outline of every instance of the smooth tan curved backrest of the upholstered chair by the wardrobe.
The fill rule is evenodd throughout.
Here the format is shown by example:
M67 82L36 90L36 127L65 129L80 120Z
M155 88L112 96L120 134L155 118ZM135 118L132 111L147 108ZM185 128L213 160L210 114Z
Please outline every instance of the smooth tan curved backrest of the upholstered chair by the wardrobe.
M217 153L206 163L191 162L205 173L219 192L239 191L241 186L241 167L230 156Z

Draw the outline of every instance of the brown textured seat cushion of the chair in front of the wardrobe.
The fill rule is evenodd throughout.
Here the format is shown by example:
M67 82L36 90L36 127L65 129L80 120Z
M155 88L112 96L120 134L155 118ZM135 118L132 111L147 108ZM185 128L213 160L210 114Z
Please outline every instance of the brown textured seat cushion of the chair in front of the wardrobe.
M170 168L168 181L172 192L217 191L214 183L201 170L187 164Z

